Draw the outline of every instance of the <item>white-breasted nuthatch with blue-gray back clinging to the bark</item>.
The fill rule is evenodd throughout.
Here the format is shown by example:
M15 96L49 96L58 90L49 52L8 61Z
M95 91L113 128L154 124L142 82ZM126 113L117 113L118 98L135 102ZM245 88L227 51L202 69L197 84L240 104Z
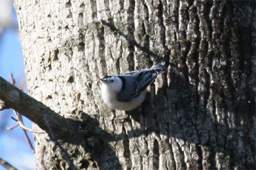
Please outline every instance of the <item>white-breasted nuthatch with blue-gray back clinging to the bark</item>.
M148 85L163 71L166 71L166 68L156 64L150 69L131 71L118 76L105 76L100 79L102 99L111 109L134 110L143 103Z

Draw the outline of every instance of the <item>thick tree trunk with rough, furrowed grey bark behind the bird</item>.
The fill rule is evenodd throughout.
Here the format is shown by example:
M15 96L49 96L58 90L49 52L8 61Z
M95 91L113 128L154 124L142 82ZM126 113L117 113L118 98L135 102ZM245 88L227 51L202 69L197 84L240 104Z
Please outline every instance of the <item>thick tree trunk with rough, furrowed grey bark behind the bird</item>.
M60 139L77 168L255 168L255 1L16 0L15 9L29 95L81 123ZM102 103L99 78L156 63L168 71L140 108ZM48 139L35 134L36 167L67 169Z

